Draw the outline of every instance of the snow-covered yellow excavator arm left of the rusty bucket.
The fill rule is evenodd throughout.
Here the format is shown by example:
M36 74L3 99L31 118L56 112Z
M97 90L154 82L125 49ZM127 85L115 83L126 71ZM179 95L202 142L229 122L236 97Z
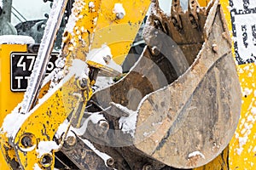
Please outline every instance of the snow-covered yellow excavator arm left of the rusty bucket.
M55 8L61 8L60 12L63 13L67 1L60 2L54 2L51 14L55 14ZM25 97L24 105L17 106L4 119L2 151L11 168L54 168L55 151L61 150L71 124L65 129L66 135L62 137L63 141L59 145L53 141L58 127L70 114L72 118L69 122L74 119L74 127L80 126L85 106L92 94L90 86L95 82L90 77L94 77L93 74L97 74L98 69L101 69L102 74L112 76L121 73L121 67L113 59L116 58L119 64L125 59L147 13L149 3L149 0L122 3L116 0L84 0L73 3L59 61L65 63L62 68L65 72L64 78L40 99L44 102L34 99L33 102L37 105L29 106L28 108L32 109L26 110L24 102L29 100ZM132 13L126 12L125 8L132 8ZM59 17L56 20L61 19ZM48 25L50 24L52 23L49 22ZM47 35L45 37L51 38ZM44 53L45 49L41 49ZM89 75L89 71L93 73ZM12 123L15 123L14 128L9 127ZM48 151L44 150L45 147Z

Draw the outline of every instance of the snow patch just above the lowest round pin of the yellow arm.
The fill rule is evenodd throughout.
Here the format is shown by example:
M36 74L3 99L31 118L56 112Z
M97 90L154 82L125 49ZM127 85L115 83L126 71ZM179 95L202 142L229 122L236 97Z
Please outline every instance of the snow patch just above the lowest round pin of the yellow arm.
M38 158L43 156L44 154L49 154L51 150L58 150L59 145L55 143L55 141L41 141L38 144Z

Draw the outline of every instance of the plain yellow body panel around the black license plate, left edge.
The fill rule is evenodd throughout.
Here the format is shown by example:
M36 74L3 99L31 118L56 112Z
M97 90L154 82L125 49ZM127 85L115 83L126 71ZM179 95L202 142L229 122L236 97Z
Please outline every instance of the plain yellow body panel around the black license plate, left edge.
M26 45L1 44L0 45L0 125L3 124L4 117L9 114L16 105L23 99L23 93L12 92L10 90L10 54L12 52L26 52ZM15 158L15 151L10 150L9 156ZM0 152L1 169L9 169L3 152Z

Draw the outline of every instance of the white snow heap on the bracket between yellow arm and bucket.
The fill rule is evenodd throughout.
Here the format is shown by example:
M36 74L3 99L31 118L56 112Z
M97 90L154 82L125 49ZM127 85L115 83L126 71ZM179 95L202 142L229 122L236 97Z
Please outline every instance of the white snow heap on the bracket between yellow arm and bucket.
M102 48L94 48L90 50L89 54L87 54L87 60L93 61L100 65L108 66L114 71L122 73L122 67L116 64L112 57L113 55L111 54L111 49L105 44L102 45Z

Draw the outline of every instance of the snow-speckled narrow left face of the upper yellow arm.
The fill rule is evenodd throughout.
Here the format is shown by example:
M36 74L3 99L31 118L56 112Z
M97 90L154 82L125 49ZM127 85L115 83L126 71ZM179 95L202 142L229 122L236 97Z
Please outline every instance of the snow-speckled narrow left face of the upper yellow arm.
M73 3L73 17L76 20L72 30L64 33L63 42L65 47L62 49L67 58L86 59L89 52L90 42L93 39L93 32L96 31L96 19L98 18L101 0L93 2L89 6L90 0L76 1ZM69 64L71 65L71 63Z

